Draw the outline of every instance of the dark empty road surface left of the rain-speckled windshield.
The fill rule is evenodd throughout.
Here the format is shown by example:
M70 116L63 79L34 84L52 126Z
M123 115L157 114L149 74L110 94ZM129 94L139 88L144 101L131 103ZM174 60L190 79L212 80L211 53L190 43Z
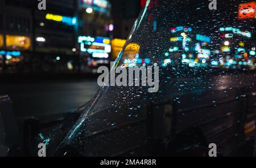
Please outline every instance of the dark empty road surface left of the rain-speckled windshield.
M96 80L46 81L0 84L0 94L8 94L20 117L55 118L88 102L98 91Z

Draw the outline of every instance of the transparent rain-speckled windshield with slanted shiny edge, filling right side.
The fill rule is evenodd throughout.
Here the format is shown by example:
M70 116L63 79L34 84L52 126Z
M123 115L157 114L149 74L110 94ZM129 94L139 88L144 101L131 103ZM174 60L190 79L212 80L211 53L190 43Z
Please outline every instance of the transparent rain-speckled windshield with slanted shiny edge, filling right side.
M113 68L159 66L159 91L102 87L30 133L28 153L44 143L49 156L208 156L214 143L218 156L253 156L256 2L209 3L147 1Z

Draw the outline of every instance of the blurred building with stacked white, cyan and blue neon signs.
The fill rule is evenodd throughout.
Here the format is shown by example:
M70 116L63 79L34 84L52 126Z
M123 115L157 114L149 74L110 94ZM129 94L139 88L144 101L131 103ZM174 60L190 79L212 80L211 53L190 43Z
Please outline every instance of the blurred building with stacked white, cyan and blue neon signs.
M113 32L112 5L106 0L79 1L79 50L81 71L96 73L97 67L109 64Z

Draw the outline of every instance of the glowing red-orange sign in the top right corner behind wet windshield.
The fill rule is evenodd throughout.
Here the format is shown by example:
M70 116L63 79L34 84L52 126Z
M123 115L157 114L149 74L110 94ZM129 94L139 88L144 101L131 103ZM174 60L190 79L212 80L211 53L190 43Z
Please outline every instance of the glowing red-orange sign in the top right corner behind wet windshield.
M238 19L256 18L256 2L242 3L238 8Z

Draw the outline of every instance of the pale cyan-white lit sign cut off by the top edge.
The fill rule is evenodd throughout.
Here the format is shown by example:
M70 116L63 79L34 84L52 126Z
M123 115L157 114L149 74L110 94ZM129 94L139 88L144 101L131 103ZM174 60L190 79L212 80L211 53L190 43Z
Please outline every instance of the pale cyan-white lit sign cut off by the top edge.
M80 0L84 7L93 8L96 11L109 12L110 3L106 0Z

